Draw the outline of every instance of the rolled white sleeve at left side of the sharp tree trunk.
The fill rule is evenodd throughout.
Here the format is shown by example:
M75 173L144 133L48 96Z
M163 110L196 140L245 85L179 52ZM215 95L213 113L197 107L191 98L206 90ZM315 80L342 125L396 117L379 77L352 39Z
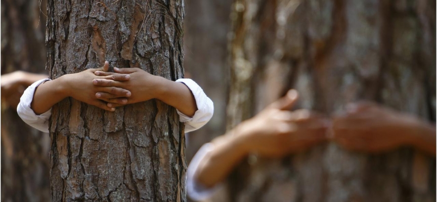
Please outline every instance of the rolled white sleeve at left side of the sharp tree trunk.
M25 123L42 132L49 132L49 118L52 116L52 109L42 113L41 115L36 115L35 112L33 112L33 110L30 108L30 104L32 103L33 94L35 93L36 87L49 80L50 79L41 79L27 87L21 96L20 103L17 107L18 116L20 116Z

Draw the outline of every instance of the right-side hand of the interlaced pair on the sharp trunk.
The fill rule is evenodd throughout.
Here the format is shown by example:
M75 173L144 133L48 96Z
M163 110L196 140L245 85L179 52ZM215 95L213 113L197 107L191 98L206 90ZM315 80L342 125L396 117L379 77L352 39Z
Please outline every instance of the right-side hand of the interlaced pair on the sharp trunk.
M96 97L107 102L108 107L119 107L157 98L159 89L164 86L163 83L166 80L139 68L114 68L114 72L96 71L95 75L104 76L104 78L94 79L93 84L101 88L126 89L132 92L132 95L130 97L118 96L104 91L96 93ZM130 79L117 79L117 75L125 74L130 75Z

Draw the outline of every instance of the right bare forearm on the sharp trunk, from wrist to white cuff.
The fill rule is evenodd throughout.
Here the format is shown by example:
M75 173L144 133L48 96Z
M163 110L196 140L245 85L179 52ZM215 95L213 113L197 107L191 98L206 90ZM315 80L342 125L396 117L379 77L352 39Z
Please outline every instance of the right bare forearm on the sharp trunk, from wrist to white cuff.
M183 83L170 81L162 77L160 82L161 85L156 98L187 116L194 116L197 105L190 88Z

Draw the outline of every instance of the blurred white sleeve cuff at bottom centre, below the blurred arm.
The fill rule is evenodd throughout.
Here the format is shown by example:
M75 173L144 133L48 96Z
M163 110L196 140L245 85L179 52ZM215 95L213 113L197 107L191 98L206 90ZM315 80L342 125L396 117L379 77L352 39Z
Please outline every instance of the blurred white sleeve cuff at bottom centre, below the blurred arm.
M223 189L225 187L222 182L216 184L214 187L206 188L194 178L200 162L202 162L203 158L205 158L205 156L213 149L214 145L212 143L203 144L202 147L200 147L200 149L197 151L196 155L194 155L190 165L188 166L187 194L190 196L191 199L195 201L208 199L216 192L220 191L220 189Z

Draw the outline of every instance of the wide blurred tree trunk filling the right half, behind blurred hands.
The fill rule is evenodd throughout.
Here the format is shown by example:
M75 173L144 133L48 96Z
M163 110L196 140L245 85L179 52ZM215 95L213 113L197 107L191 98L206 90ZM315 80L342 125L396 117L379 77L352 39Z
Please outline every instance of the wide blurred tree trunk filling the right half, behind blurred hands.
M289 88L325 114L361 99L435 121L435 1L236 0L228 129ZM284 158L249 157L232 201L435 201L435 159L335 143Z

